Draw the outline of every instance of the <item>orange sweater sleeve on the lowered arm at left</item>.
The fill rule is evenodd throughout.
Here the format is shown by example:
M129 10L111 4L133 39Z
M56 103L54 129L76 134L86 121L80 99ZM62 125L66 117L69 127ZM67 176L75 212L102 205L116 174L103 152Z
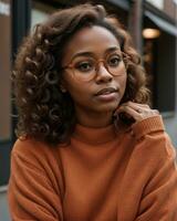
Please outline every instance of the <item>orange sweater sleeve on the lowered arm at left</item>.
M27 150L30 148L24 147L24 152L15 149L17 147L11 155L8 190L12 220L63 220L60 193L56 192L42 161L39 160L41 156L32 157L31 150L29 152Z

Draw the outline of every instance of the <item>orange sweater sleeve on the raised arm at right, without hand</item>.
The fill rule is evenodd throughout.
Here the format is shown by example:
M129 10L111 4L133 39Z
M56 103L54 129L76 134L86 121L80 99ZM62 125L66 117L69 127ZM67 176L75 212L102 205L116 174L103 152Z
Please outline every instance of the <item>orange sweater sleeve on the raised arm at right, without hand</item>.
M148 122L148 120L147 120ZM144 122L143 124L146 124ZM153 122L153 120L152 120ZM139 203L139 209L135 221L176 221L177 220L177 167L176 152L171 145L168 135L163 131L163 122L154 118L156 129L145 134L138 133L143 129L136 127L138 135L138 148L144 146L147 139L149 144L157 146L152 161L154 160L154 168L150 177L144 188L143 196ZM160 126L162 124L162 126ZM145 125L144 125L145 126ZM147 128L147 125L145 126ZM154 126L150 125L150 128ZM144 128L142 131L145 131ZM143 135L140 137L140 134ZM150 141L152 140L152 141ZM154 141L156 140L156 141ZM149 147L150 148L150 147ZM156 158L156 159L155 159Z

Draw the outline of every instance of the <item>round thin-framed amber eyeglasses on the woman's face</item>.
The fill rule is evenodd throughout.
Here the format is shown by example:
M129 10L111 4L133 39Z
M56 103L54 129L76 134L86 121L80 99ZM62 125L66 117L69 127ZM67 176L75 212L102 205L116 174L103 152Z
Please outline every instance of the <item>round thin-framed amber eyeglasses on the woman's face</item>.
M93 57L75 59L77 61L71 61L69 65L62 67L62 70L71 69L73 76L81 82L88 82L93 80L100 69L100 63L104 64L104 67L112 75L123 75L125 72L119 70L119 65L123 62L123 56L119 52L108 54L104 60L95 60Z

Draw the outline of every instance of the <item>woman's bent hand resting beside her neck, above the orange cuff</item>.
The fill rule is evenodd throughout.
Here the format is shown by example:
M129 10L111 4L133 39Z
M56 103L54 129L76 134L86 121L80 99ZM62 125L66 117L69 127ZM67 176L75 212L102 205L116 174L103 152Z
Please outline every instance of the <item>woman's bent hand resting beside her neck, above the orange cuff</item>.
M150 107L147 104L138 104L134 102L127 102L122 104L116 109L114 115L118 115L121 113L127 115L128 118L132 117L133 119L135 119L135 122L140 122L148 117L159 115L159 112L157 109L150 109Z

